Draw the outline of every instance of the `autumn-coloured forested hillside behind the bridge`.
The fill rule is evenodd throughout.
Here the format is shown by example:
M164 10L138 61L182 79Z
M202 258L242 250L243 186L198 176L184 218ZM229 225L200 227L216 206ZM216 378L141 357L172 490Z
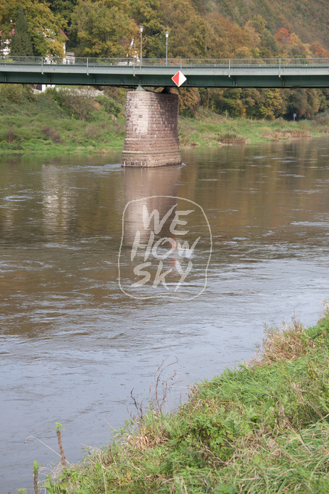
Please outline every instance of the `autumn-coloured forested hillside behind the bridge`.
M23 11L34 55L132 57L329 57L325 0L0 0L2 39ZM28 52L30 53L30 52ZM190 89L180 91L180 111L201 106L230 116L312 118L329 106L319 89Z

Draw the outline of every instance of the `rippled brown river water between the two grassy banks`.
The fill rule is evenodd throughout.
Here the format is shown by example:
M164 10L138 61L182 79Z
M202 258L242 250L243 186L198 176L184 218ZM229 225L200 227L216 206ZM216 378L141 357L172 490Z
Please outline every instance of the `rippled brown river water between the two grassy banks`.
M109 441L134 412L133 388L147 403L163 360L178 359L163 372L179 374L172 405L188 385L250 358L264 322L317 321L329 295L329 139L195 148L183 161L123 170L119 153L0 160L1 494L32 492L33 460L58 461L55 422L70 462ZM161 283L128 289L135 206L161 218L173 197L180 210L192 204L180 219L199 238L185 298L173 270L172 297ZM168 242L170 222L163 228Z

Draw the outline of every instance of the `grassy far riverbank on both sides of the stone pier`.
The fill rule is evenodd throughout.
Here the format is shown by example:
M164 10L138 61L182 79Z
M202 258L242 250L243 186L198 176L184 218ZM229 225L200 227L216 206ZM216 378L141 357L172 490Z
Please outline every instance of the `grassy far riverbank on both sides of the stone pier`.
M110 153L124 147L124 90L88 97L50 90L34 94L28 87L1 84L1 155ZM226 119L207 109L180 117L180 146L242 145L321 136L328 133L329 114L298 122Z

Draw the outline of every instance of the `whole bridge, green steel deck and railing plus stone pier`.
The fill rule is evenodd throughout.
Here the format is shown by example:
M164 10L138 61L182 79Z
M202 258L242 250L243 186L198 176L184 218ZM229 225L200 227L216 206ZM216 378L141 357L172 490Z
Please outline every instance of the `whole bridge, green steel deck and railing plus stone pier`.
M247 60L0 57L0 83L121 86L126 94L126 139L122 165L153 167L181 162L178 94L143 87L329 87L328 58Z

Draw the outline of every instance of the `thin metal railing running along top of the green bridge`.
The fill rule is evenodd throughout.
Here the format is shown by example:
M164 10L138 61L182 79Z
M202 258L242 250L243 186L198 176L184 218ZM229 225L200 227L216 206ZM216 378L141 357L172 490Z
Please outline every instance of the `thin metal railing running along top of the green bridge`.
M247 59L202 59L202 58L143 58L140 63L135 58L97 57L0 57L0 67L12 66L74 65L75 67L144 67L154 69L285 69L285 68L329 68L329 58L247 58Z

